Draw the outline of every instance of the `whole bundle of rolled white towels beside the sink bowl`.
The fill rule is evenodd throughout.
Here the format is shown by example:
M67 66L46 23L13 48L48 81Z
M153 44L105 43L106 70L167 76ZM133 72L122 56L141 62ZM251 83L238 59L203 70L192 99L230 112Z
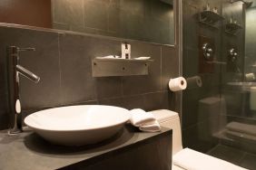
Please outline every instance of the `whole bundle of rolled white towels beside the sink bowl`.
M151 112L145 112L143 109L130 110L130 122L134 127L139 127L145 132L158 132L161 127Z

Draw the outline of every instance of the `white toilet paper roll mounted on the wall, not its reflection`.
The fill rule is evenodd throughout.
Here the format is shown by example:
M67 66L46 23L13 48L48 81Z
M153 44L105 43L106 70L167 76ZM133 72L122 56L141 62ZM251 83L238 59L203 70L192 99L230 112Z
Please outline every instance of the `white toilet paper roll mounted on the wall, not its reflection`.
M169 89L172 91L185 90L187 88L187 81L183 77L178 77L169 80Z

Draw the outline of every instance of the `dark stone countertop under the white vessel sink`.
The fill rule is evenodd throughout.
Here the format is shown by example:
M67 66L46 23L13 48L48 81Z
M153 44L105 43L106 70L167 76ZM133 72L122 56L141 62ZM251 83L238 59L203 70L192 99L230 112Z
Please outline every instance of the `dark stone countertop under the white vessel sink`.
M114 137L97 145L70 147L50 144L29 128L15 136L9 136L4 130L0 131L0 169L58 169L81 162L92 165L131 147L170 135L172 130L165 127L161 132L146 133L126 125Z

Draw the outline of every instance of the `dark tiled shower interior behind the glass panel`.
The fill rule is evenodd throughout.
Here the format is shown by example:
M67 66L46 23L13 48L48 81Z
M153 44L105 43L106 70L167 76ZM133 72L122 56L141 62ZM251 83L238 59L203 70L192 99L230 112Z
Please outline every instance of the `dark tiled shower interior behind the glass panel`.
M202 79L183 92L183 145L256 169L256 0L182 5L183 76Z

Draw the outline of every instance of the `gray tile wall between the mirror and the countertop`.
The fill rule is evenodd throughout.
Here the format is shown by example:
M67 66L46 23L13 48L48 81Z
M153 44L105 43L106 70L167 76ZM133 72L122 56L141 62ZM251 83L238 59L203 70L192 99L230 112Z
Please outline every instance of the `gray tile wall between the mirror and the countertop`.
M126 109L172 109L179 111L179 94L167 82L179 76L177 47L128 41L132 57L151 56L148 76L93 78L91 61L96 56L121 54L121 43L101 36L55 33L0 26L0 128L8 126L6 47L34 47L22 52L21 64L41 77L38 84L21 79L21 102L25 115L38 109L75 104L104 104Z

